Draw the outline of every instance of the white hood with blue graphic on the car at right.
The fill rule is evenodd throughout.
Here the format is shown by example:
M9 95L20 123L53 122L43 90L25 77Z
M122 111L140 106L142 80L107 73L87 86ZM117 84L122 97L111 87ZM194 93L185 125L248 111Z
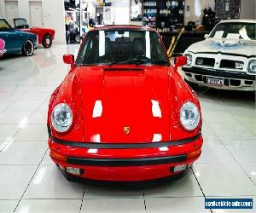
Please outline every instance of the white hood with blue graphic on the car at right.
M237 55L255 55L256 42L243 40L212 39L193 43L187 51L193 53L225 53Z

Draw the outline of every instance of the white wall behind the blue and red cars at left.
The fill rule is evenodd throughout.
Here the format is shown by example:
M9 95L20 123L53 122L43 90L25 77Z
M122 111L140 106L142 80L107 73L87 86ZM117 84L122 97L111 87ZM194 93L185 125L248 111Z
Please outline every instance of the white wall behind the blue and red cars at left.
M6 18L5 4L9 0L0 0L0 16ZM18 3L18 13L20 18L26 18L31 23L30 15L30 0L12 0L9 2ZM53 28L56 32L55 43L65 43L65 14L64 14L64 1L63 0L33 0L32 2L42 2L42 18L44 27ZM33 17L32 17L33 19ZM10 23L12 24L12 23Z

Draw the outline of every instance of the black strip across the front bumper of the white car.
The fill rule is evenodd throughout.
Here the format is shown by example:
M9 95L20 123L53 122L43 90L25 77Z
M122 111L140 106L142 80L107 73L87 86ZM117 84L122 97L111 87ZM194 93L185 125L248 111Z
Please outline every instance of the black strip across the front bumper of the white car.
M256 80L256 75L248 75L246 72L232 72L228 70L216 70L213 68L201 68L201 67L183 67L183 72L195 73L199 75L215 76L223 78L240 78L245 80Z

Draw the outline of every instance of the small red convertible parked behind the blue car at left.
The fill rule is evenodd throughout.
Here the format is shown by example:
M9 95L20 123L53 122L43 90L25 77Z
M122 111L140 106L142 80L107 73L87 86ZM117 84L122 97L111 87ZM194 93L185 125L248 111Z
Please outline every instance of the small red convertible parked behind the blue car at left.
M44 48L50 48L55 38L55 30L43 27L31 27L26 19L14 19L15 28L23 32L31 32L38 35L38 43L42 43Z

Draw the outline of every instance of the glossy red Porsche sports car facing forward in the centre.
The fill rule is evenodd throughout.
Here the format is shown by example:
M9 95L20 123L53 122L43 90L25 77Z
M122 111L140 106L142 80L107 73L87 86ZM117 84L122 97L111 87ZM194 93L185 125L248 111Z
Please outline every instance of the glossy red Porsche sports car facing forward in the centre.
M201 155L201 108L160 35L140 26L87 33L49 101L49 154L70 181L149 181Z

